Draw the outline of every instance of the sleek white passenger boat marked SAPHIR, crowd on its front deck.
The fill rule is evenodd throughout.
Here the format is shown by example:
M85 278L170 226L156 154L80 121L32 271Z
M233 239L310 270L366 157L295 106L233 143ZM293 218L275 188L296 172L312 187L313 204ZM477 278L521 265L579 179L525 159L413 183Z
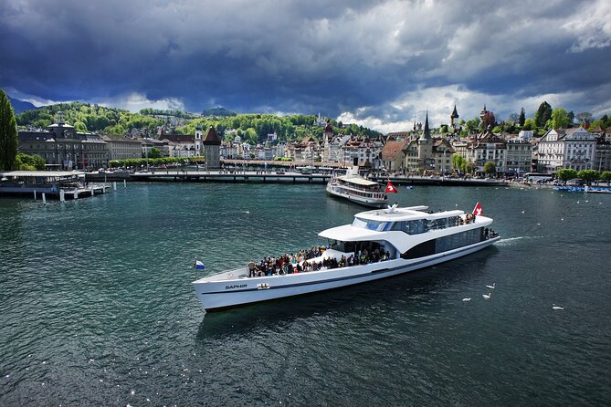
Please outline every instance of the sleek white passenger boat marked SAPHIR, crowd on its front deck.
M393 205L322 231L327 249L307 260L315 271L258 275L249 263L195 280L195 293L206 311L235 307L396 276L469 255L500 239L490 230L492 219L480 215L479 204L476 216L458 210L433 214L427 208Z

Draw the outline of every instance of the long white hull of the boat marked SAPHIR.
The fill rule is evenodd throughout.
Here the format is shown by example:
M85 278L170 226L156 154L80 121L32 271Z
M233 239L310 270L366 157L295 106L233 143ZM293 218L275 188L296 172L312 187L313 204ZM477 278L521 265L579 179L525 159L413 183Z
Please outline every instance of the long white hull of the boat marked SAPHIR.
M499 239L500 237L497 236L474 245L418 259L386 260L362 266L349 266L285 276L245 277L218 281L208 281L202 278L196 280L193 285L195 293L205 310L215 311L270 299L353 286L385 277L394 277L461 256L467 256L492 245Z

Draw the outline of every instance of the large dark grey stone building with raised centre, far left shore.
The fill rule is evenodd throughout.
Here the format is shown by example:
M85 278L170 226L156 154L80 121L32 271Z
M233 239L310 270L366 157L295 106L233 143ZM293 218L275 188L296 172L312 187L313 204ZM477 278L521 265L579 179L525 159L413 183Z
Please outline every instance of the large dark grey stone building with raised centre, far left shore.
M19 130L17 150L41 156L49 168L85 170L106 167L109 152L99 134L79 133L65 123L58 112L58 122L47 130Z

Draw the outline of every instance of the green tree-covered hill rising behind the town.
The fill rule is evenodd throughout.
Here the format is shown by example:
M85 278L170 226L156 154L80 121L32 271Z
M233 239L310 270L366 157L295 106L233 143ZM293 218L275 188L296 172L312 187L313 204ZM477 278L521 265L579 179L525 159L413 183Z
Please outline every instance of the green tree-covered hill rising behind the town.
M203 130L214 126L219 134L235 129L236 134L228 134L227 139L236 135L250 143L266 141L269 133L276 133L279 141L300 141L311 136L321 140L323 128L316 124L314 115L276 116L272 114L236 114L230 110L212 110L222 116L195 115L181 110L143 109L139 113L128 110L107 108L88 103L71 102L46 106L39 110L24 111L17 116L17 124L22 127L46 128L57 121L58 111L64 121L81 132L121 136L132 130L139 130L150 137L159 137L161 129L182 134L194 134L195 127ZM207 110L211 111L211 110ZM230 115L234 113L234 115ZM335 134L379 137L381 133L362 126L343 126L341 122L330 120Z

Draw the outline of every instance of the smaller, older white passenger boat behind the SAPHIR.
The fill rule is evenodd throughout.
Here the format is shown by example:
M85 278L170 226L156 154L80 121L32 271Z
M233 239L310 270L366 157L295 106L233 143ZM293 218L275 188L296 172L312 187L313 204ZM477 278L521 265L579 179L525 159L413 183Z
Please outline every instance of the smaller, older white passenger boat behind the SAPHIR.
M388 203L385 185L363 178L358 167L348 170L345 175L332 177L327 183L327 193L374 208Z

